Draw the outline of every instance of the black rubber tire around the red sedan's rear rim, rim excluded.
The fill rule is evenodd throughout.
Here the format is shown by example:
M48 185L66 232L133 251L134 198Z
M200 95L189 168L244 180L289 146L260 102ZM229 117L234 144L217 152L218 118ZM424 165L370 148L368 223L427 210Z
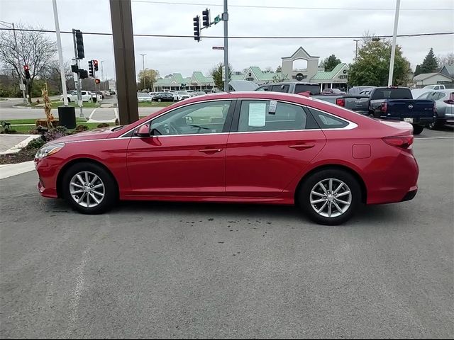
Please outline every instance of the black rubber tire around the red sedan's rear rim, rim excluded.
M342 215L336 217L325 217L319 215L311 205L311 191L317 183L323 180L336 179L345 183L350 189L351 202L348 209ZM297 204L304 214L320 225L341 225L350 220L361 204L360 183L355 177L342 169L323 169L311 174L304 180L297 193ZM337 210L336 208L334 208Z

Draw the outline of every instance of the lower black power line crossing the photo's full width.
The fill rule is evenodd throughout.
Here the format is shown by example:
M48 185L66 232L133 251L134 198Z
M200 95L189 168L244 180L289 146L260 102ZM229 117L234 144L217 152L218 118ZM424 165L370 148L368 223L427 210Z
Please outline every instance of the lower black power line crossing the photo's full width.
M13 28L0 28L0 30L13 30ZM33 30L27 28L16 28L15 30L21 30L24 32L43 32L43 33L55 33L55 30ZM61 30L60 33L72 34L70 30ZM101 33L101 32L83 32L84 35L112 35L112 33ZM413 33L413 34L398 34L399 38L414 38L414 37L423 37L423 36L433 36L433 35L453 35L454 32L438 32L438 33ZM192 38L194 35L170 35L170 34L134 34L135 37L150 37L150 38ZM392 35L374 35L377 38L392 38ZM223 35L204 35L202 38L224 38ZM237 36L229 35L229 39L358 39L364 38L362 35L334 35L334 36L296 36L296 37L270 37L270 36Z

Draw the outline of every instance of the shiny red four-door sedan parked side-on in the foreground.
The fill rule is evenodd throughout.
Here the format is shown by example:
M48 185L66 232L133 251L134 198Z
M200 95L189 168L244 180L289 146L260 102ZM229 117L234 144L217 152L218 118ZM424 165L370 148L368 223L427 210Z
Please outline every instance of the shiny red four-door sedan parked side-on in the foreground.
M337 225L361 203L414 198L411 129L292 94L198 96L48 143L38 190L88 214L118 198L296 204Z

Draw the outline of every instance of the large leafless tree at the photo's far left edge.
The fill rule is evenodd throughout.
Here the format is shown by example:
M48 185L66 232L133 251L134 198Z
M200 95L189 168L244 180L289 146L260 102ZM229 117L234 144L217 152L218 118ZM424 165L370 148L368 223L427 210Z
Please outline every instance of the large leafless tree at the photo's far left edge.
M56 42L44 32L29 31L34 29L36 28L32 26L18 24L16 28L17 44L12 30L4 30L0 33L1 62L11 66L19 79L25 78L24 65L28 65L30 69L31 79L27 81L29 103L31 103L31 86L35 77L45 75L46 65L54 59L55 52L57 52Z

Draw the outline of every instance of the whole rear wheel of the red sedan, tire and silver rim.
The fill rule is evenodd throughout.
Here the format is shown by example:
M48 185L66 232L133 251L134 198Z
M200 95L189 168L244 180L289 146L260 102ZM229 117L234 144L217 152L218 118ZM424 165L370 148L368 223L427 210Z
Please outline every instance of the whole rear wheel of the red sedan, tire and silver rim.
M299 189L298 203L305 214L321 225L340 225L358 210L361 188L355 177L341 169L311 174Z

